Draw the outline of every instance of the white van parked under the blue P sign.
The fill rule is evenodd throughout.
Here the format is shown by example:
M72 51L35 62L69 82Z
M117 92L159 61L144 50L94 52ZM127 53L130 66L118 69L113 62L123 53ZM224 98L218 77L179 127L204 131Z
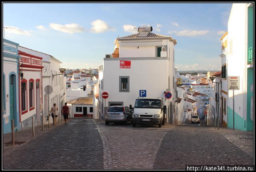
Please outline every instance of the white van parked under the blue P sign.
M130 105L131 106L131 105ZM138 98L135 101L132 126L136 124L157 124L164 125L166 106L162 98Z

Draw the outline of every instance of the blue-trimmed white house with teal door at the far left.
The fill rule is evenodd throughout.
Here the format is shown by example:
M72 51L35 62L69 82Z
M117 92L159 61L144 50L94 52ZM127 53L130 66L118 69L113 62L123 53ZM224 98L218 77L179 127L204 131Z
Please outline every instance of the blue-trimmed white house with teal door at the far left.
M18 45L3 39L2 129L4 134L12 131L12 119L14 119L14 130L20 130Z

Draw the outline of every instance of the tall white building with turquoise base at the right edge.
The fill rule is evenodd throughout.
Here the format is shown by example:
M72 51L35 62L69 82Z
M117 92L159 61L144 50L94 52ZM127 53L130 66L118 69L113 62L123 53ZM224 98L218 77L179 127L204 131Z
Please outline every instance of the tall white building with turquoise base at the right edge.
M254 129L254 3L234 3L228 19L226 69L229 76L239 76L240 88L228 89L227 127L243 131ZM234 112L234 118L233 118ZM233 125L234 120L234 125Z

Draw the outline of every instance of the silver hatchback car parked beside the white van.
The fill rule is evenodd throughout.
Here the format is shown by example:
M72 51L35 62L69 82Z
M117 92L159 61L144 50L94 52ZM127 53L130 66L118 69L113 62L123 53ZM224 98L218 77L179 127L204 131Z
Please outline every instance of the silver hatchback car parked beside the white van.
M106 112L105 123L109 125L111 122L132 122L132 111L127 106L110 106Z

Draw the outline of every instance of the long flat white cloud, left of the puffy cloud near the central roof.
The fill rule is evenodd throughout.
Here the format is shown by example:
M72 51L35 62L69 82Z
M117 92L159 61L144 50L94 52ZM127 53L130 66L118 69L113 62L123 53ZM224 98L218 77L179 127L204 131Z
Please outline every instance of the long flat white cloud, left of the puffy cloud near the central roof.
M84 30L85 30L83 26L78 25L76 23L65 24L65 25L60 25L60 24L57 24L57 23L50 23L50 28L54 29L54 30L57 30L57 31L70 33L70 34L73 34L73 33L76 33L76 32L83 33Z

